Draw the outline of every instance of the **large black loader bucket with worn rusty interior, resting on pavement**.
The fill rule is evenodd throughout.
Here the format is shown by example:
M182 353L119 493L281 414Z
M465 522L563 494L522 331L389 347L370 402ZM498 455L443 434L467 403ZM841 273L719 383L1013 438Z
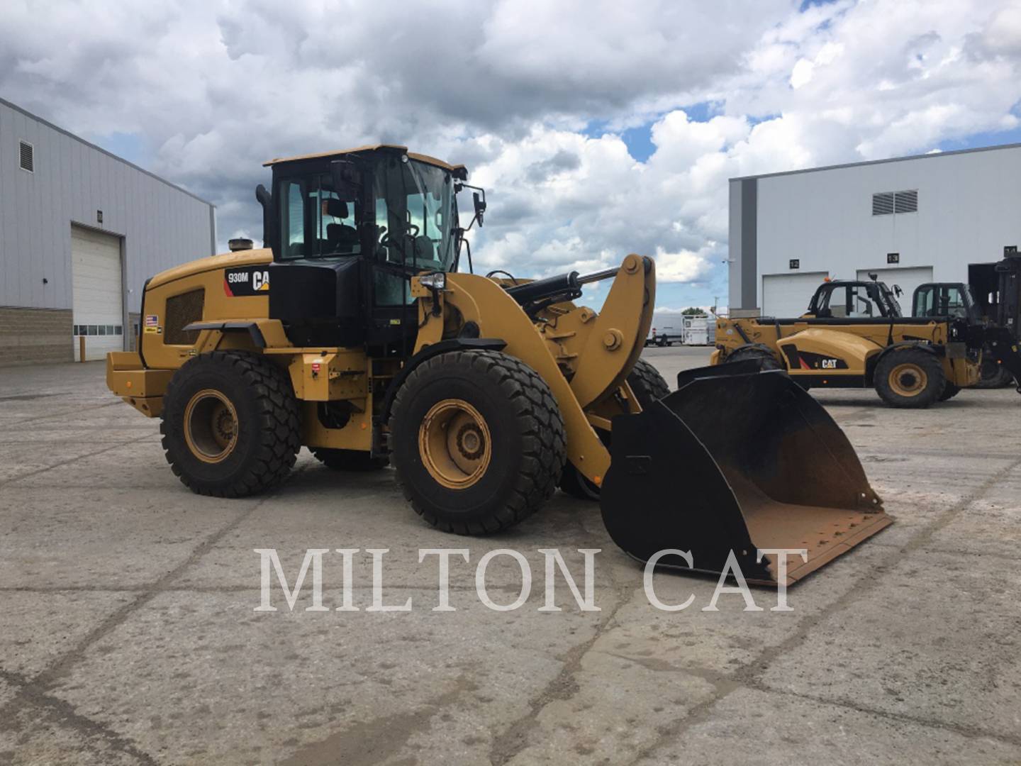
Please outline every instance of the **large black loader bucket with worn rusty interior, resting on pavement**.
M756 362L681 373L677 391L614 419L611 458L602 519L639 561L678 548L720 573L733 550L748 582L775 586L777 556L757 550L804 548L807 563L787 556L790 584L893 521L823 406Z

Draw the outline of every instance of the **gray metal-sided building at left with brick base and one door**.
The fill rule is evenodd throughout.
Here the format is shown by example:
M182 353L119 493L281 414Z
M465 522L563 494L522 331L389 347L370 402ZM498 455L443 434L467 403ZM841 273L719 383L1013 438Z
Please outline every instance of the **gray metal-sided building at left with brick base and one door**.
M131 348L145 280L215 241L211 203L0 99L0 365Z

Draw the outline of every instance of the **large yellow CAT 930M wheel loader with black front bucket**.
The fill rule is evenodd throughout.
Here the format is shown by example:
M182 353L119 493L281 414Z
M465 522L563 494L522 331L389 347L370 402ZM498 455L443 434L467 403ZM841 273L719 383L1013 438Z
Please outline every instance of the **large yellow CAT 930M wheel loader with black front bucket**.
M598 497L614 540L664 566L792 582L876 533L857 454L779 373L727 365L678 390L639 358L655 299L650 258L535 281L471 273L463 165L377 145L268 162L263 249L146 284L137 352L110 389L162 419L166 460L195 492L277 485L306 446L339 470L388 463L426 521L504 529L557 485ZM468 273L458 271L466 255ZM600 312L574 301L613 280Z

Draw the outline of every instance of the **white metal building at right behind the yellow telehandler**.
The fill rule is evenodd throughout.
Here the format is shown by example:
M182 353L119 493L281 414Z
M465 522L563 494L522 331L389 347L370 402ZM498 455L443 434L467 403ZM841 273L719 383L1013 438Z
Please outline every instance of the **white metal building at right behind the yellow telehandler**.
M796 317L824 277L969 282L1021 245L1021 144L730 180L731 315ZM991 282L991 284L990 284Z

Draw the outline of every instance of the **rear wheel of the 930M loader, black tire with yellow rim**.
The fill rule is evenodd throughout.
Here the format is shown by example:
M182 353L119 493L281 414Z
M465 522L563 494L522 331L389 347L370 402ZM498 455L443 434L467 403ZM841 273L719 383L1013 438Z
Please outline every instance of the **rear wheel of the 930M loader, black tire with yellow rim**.
M166 387L159 431L174 474L193 492L215 497L280 483L301 448L290 378L246 351L186 362Z

